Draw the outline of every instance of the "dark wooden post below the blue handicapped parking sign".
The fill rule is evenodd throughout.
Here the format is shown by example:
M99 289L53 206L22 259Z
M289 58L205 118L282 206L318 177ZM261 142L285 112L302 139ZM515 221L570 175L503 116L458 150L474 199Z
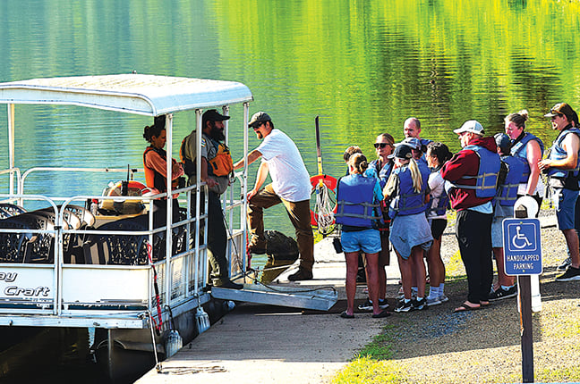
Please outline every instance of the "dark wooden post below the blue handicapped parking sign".
M522 337L522 382L533 383L532 288L530 276L517 277Z

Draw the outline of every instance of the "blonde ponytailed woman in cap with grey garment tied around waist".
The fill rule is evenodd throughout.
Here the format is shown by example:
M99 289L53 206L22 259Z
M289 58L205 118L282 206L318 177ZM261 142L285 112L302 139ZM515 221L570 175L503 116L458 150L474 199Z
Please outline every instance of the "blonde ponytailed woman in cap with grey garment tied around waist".
M429 169L420 171L409 146L395 149L395 170L383 189L391 218L389 240L395 248L403 282L403 298L395 312L410 312L427 308L425 285L419 284L417 298L412 300L412 286L425 281L423 251L429 250L433 237L425 210L429 202Z

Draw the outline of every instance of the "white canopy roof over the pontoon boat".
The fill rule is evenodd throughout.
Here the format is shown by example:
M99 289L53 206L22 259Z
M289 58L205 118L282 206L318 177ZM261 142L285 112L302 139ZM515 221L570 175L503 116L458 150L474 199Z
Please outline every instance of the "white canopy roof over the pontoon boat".
M0 83L0 104L73 104L148 116L252 100L250 89L235 81L141 74Z

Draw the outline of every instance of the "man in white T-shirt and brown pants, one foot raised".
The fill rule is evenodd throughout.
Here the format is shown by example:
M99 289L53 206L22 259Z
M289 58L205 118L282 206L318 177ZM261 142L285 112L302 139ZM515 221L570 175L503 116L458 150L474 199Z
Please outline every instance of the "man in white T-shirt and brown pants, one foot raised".
M260 157L262 159L254 188L248 193L248 222L252 231L249 250L254 254L266 253L263 209L282 203L296 230L300 251L300 268L288 276L288 280L310 280L314 263L311 183L302 156L292 139L274 128L268 113L254 113L248 127L254 130L258 138L263 139L260 146L248 154L248 165ZM234 164L234 169L242 168L243 165L242 159ZM268 174L272 183L261 188Z

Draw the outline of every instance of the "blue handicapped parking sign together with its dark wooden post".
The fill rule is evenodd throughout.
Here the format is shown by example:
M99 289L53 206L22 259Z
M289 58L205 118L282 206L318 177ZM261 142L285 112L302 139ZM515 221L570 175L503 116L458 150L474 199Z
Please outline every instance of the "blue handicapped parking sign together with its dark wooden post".
M538 219L505 219L503 224L506 274L517 276L522 335L522 381L533 382L532 289L530 275L542 273Z

